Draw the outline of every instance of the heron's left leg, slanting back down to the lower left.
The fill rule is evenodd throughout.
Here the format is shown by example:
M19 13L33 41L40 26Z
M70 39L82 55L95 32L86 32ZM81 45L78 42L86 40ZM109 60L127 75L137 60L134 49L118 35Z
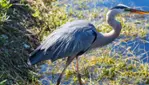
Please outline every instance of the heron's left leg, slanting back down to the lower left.
M58 78L58 80L57 80L57 84L56 84L56 85L59 85L59 84L60 84L61 79L62 79L62 76L63 76L63 74L64 74L66 68L69 66L69 64L72 62L72 60L73 60L74 58L75 58L75 56L73 56L73 57L68 57L68 58L67 58L66 66L64 67L62 73L60 74L60 76L59 76L59 78Z

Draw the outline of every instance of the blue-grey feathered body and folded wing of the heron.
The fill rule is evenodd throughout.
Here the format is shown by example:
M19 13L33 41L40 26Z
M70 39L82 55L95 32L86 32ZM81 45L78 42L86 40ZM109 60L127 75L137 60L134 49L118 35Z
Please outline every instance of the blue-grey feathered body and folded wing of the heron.
M69 22L51 33L31 54L30 62L55 61L64 57L76 56L89 49L96 38L95 27L85 20Z

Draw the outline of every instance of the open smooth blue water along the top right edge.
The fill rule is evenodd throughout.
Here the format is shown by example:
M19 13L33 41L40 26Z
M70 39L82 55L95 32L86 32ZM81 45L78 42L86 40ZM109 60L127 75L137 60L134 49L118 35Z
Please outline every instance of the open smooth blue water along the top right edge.
M70 4L75 7L76 1L79 0L58 0L62 2L62 4ZM83 3L89 8L101 8L101 7L108 7L111 8L116 6L117 4L125 4L130 7L143 9L149 11L149 0L88 0L87 2Z

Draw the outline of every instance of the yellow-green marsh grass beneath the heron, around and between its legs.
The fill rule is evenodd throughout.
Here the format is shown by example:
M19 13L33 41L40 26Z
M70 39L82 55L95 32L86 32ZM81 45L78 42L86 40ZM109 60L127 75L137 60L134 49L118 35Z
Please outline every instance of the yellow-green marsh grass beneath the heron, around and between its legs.
M103 85L148 84L148 64L143 64L135 59L122 58L122 56L117 58L105 55L80 57L80 73L85 85L98 85L99 83ZM55 85L56 82L52 81L56 81L57 75L55 74L61 72L63 64L64 62L62 61L56 64L50 64L49 67L53 69L47 69L48 72L42 74L47 77L52 76L51 79L46 80L47 82L51 81L50 85ZM74 60L66 70L62 84L78 84L75 67Z

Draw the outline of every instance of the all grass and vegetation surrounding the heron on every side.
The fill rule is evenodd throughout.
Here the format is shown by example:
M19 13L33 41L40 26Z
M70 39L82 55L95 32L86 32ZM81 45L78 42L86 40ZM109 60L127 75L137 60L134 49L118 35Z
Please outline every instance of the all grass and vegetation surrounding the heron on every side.
M55 1L55 0L53 0ZM53 2L52 1L52 2ZM60 59L48 65L47 72L40 72L38 68L27 68L27 58L39 43L53 30L67 21L86 19L91 21L99 32L109 32L112 28L105 22L107 8L89 9L88 3L92 0L75 1L76 8L72 4L62 2L52 3L51 0L21 0L17 3L13 0L0 2L0 85L38 85L41 82L56 83L57 75L64 67L64 60ZM96 1L95 1L96 2ZM96 4L96 3L92 4ZM130 18L133 18L133 21ZM122 32L119 39L112 43L115 47L120 43L134 40L136 37L145 41L148 24L144 18L137 18L129 14L117 17L122 23ZM141 17L141 16L140 16ZM124 47L129 51L128 47ZM91 51L80 58L80 72L82 81L87 85L110 84L148 84L148 64L133 59L135 55L128 57L121 53L110 55L111 45ZM133 54L132 51L129 51ZM36 71L35 71L36 70ZM53 79L48 81L44 76ZM42 79L43 78L43 79ZM41 79L40 81L38 79ZM45 81L44 81L45 80ZM40 83L39 83L40 82ZM75 61L65 72L62 83L78 84L75 71Z

